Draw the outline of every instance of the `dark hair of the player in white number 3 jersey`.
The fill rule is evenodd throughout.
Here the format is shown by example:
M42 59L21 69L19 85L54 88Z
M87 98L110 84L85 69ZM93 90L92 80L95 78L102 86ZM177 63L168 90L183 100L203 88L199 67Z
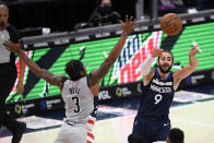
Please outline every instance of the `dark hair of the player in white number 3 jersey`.
M83 70L83 63L80 60L70 60L66 64L66 72L72 81L81 79L80 72Z

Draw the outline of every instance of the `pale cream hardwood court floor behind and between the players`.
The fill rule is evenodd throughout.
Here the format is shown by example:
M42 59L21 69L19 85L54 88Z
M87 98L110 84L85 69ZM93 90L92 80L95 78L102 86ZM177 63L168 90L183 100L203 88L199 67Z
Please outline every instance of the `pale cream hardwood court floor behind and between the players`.
M111 111L112 118L98 120L94 127L95 143L127 143L136 110L100 106L99 111ZM186 143L214 143L214 99L192 102L170 108L171 127L185 131ZM24 119L23 119L24 120ZM55 120L52 120L55 122ZM59 122L58 122L59 123ZM28 124L28 122L27 122ZM25 133L21 143L54 143L60 126ZM10 143L11 135L0 138L0 143Z

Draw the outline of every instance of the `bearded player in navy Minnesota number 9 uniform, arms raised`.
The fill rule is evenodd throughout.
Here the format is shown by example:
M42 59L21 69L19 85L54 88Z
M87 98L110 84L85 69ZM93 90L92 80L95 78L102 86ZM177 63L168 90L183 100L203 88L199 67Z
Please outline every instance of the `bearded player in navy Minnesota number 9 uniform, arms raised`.
M166 143L170 130L168 114L174 93L181 80L197 69L197 47L189 52L189 64L175 72L170 71L174 64L173 53L159 48L155 48L152 56L142 63L142 95L132 133L145 143ZM156 57L158 68L154 69L151 65Z

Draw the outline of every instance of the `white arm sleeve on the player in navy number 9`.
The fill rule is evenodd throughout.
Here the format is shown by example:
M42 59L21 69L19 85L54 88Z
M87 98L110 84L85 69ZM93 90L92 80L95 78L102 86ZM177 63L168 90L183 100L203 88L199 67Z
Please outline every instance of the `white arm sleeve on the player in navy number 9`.
M153 63L153 61L155 60L155 58L153 58L152 56L148 56L143 63L141 64L141 73L143 76L147 75L151 71L151 65Z

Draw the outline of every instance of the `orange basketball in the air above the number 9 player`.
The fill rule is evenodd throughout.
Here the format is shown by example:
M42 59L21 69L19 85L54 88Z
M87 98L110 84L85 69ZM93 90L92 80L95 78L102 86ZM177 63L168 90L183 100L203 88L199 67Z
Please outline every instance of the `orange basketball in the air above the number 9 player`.
M167 35L177 35L182 29L182 20L176 13L165 14L160 20L160 28Z

